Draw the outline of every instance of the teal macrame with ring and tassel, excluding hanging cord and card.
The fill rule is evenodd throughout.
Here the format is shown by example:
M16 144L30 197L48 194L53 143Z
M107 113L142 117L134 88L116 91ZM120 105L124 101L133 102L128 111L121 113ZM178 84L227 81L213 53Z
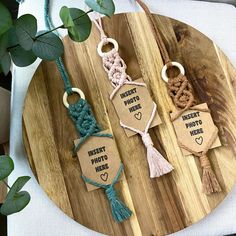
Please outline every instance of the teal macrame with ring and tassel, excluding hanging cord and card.
M83 92L77 88L71 89L73 92L78 92L81 97L77 103L71 105L67 103L67 92L65 92L63 97L64 105L69 110L69 116L74 121L76 130L81 136L78 145L75 146L74 152L77 152L81 145L91 136L112 138L111 134L99 133L101 128L92 113L90 105L85 100ZM112 216L117 222L122 222L128 219L132 214L130 209L122 201L120 201L114 189L114 185L117 183L123 169L124 167L121 163L120 168L111 184L101 184L87 178L85 175L82 175L85 182L105 190L106 196L110 201Z

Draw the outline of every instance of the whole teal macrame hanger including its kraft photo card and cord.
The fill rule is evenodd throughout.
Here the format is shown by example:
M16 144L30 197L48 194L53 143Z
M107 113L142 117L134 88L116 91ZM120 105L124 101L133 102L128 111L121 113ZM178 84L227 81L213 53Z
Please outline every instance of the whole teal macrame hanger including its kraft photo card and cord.
M50 30L53 25L49 16L49 0L45 0L45 23L46 23L47 28ZM65 86L63 103L65 107L68 109L68 114L71 120L74 122L76 130L78 134L80 135L80 139L75 142L74 154L80 153L80 150L83 148L86 149L85 146L88 143L91 144L91 142L94 142L95 147L97 147L98 145L101 145L102 143L101 145L102 147L97 148L97 150L95 149L96 151L94 150L89 151L86 149L84 152L84 155L80 156L78 154L82 172L85 173L85 169L87 170L86 175L83 174L82 178L87 184L88 190L89 189L93 190L96 188L103 188L105 190L105 194L110 202L113 218L117 222L122 222L128 219L132 215L132 212L119 199L119 197L117 196L116 190L114 188L114 185L118 182L119 177L124 169L124 166L120 161L117 147L115 145L115 141L113 140L113 136L112 134L107 133L106 131L102 132L101 127L99 126L99 124L97 123L93 115L93 112L91 110L89 103L85 99L84 93L80 89L73 88L71 86L69 75L63 64L62 58L59 58L56 61L56 63L57 63L61 78L63 79L64 86ZM67 101L68 96L74 93L77 93L80 96L80 99L74 104L69 104ZM92 140L94 138L98 138L98 139ZM108 145L109 147L107 148L106 145ZM109 150L107 151L106 148L109 150L112 150L113 152ZM102 165L102 167L101 166L89 167L88 165L91 165L92 161L94 161L94 163L96 164L97 163L96 160L99 159L97 157L90 159L91 156L94 157L96 152L103 152L104 160L106 160L107 163L105 165ZM86 166L86 168L83 168L84 166ZM108 168L110 168L110 172ZM91 173L92 172L91 170L93 171L93 173ZM106 172L104 172L104 170ZM95 181L94 179L89 178L87 174L94 176L99 181ZM112 176L110 176L110 174L112 174ZM110 182L110 183L105 184L107 182Z

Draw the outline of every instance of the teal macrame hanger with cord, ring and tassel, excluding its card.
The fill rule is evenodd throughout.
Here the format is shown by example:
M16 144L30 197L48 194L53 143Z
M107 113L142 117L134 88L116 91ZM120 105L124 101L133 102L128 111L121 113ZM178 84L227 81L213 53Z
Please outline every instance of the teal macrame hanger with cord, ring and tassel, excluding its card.
M50 30L51 28L53 28L53 24L49 16L49 0L45 0L44 16L45 16L46 26ZM63 64L62 58L57 59L56 64L65 86L63 103L65 107L68 109L68 114L71 120L74 122L76 130L80 135L80 140L78 144L75 145L74 153L76 154L79 151L79 149L83 146L83 144L85 144L85 142L87 141L89 142L89 138L91 138L92 136L107 137L112 139L113 138L112 134L101 133L102 129L97 123L93 115L91 106L86 101L82 90L78 88L73 88L71 86L69 76ZM73 93L78 93L80 99L75 104L69 104L67 102L67 98L69 95L72 95ZM105 190L106 196L110 202L112 216L117 222L122 222L128 219L132 215L131 210L119 199L119 197L116 194L116 190L114 188L114 185L118 182L123 169L124 166L122 163L120 163L120 167L110 184L102 184L100 182L96 182L86 177L85 175L82 175L82 178L85 181L85 183L93 185L97 188L103 188Z

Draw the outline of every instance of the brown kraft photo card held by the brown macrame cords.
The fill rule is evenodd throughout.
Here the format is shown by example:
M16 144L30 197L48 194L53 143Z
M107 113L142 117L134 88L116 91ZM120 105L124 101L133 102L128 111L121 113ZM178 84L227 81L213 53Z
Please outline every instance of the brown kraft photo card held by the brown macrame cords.
M206 103L202 103L193 108L206 109L208 106ZM175 112L171 113L170 116L173 117L174 114ZM173 125L179 142L195 152L204 150L215 129L211 114L198 110L185 111L173 122ZM220 146L220 139L217 137L211 149ZM182 151L184 155L191 154L185 149L182 149Z

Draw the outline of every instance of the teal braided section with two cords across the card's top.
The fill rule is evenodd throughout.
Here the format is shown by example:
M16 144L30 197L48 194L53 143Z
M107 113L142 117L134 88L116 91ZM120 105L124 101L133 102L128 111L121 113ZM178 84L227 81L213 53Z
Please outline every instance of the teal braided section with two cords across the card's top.
M99 133L102 129L95 119L91 106L84 99L79 99L75 104L69 106L69 116L75 123L77 132L80 134L80 141L74 148L74 154L77 153L81 145L90 137L108 137L112 134Z

